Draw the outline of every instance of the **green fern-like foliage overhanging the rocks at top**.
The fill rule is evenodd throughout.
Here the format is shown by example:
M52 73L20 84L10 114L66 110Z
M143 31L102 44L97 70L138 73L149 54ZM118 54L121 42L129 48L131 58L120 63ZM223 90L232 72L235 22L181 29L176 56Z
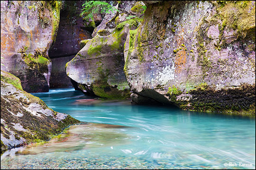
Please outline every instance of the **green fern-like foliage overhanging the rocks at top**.
M82 15L84 15L85 20L89 20L93 18L93 14L103 14L103 13L110 13L117 10L116 8L112 7L105 1L102 0L86 0L84 4L82 4Z

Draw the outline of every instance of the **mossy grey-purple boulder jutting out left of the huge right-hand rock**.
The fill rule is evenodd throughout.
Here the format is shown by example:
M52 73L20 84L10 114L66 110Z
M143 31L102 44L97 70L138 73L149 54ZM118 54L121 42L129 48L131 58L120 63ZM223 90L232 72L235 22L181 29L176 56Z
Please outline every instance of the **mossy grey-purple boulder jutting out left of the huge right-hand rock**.
M136 5L138 10L132 12ZM130 90L123 72L123 46L128 31L136 29L142 21L139 17L144 10L142 6L135 1L121 1L115 8L120 7L123 13L106 14L94 29L93 38L80 43L83 48L66 64L66 73L84 93L105 99L129 97Z

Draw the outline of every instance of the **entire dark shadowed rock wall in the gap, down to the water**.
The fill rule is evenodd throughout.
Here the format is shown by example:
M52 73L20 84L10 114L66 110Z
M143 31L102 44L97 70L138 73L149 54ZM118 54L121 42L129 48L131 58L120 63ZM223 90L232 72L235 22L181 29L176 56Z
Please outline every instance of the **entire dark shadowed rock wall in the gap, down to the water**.
M66 75L65 64L73 59L81 49L79 42L91 38L91 33L84 26L82 12L83 1L64 1L60 11L60 24L55 42L49 50L52 59L50 87L71 87L70 78Z

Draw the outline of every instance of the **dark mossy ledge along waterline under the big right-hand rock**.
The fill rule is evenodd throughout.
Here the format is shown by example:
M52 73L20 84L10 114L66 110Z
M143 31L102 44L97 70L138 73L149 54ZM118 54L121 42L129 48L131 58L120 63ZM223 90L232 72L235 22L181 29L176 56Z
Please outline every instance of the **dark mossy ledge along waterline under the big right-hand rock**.
M202 83L188 92L192 95L187 101L174 103L183 110L223 112L255 116L255 84L242 84L219 90Z

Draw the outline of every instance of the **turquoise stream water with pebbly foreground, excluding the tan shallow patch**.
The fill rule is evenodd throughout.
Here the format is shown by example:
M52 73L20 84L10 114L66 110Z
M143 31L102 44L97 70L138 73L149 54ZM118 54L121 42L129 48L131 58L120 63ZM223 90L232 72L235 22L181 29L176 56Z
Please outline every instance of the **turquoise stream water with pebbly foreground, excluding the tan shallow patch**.
M92 98L71 88L33 95L81 121L128 126L113 129L126 137L120 141L107 135L108 142L98 147L68 152L14 154L13 150L1 157L1 168L255 168L255 118L84 100ZM229 162L234 166L224 165Z

